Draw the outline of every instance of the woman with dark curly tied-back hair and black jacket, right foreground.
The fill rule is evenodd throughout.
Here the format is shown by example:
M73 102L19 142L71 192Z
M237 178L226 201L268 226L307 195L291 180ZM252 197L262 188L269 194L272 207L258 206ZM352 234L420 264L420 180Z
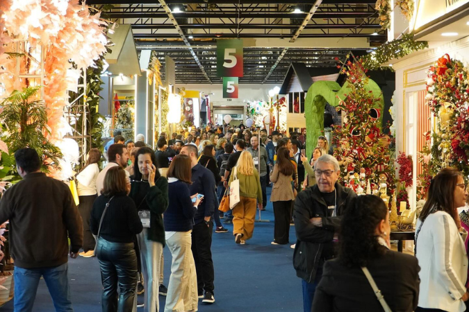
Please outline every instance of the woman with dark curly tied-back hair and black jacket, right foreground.
M368 268L390 311L414 311L418 261L389 250L389 213L383 200L358 196L345 209L338 258L324 263L312 311L383 311L362 268Z

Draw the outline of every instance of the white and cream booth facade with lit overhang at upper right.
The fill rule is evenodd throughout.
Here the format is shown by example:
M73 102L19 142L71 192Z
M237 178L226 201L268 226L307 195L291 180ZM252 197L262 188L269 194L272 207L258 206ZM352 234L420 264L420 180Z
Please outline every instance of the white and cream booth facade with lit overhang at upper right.
M447 1L446 1L447 2ZM418 175L422 173L419 153L426 144L425 134L435 128L437 118L427 105L427 71L443 55L469 62L469 0L419 1L411 24L416 40L428 41L429 49L391 60L395 69L396 153L413 159L413 187L409 198L416 198ZM410 201L415 208L415 200Z

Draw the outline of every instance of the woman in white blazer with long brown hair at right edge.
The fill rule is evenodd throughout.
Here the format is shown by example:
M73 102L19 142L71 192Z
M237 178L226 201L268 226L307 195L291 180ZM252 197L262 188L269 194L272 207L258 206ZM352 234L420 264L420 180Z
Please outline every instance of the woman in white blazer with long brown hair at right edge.
M420 294L415 311L463 312L468 257L457 207L466 203L466 184L459 171L445 168L431 180L427 202L415 232ZM463 234L463 232L465 232Z

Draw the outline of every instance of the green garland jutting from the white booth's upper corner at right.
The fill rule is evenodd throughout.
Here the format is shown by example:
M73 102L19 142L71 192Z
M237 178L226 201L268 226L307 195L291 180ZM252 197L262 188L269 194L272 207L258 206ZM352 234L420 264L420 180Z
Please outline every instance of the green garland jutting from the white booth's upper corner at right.
M386 1L386 0L383 0ZM405 55L413 53L418 50L428 48L428 42L413 40L413 34L402 35L399 39L395 39L386 44L379 46L375 51L364 55L361 58L363 67L369 70L377 69L390 69L392 67L381 67L381 64L386 64L389 60L394 58L402 58Z

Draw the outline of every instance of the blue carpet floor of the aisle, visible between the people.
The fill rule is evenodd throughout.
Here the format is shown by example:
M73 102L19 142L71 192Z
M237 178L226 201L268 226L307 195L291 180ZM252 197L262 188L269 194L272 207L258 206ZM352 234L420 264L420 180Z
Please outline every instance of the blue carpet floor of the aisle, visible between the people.
M270 192L270 189L268 189ZM293 269L290 245L270 245L274 235L272 203L262 211L254 236L246 245L236 245L232 225L224 225L228 233L213 233L212 254L215 266L215 303L202 304L207 312L302 311L302 284ZM295 229L290 226L290 243L295 243ZM164 249L165 282L170 278L171 254ZM96 258L69 259L72 302L76 312L101 311L101 277ZM139 300L142 302L142 297ZM165 297L160 296L163 311ZM13 300L0 308L13 311ZM49 291L40 281L33 311L54 311ZM138 309L143 311L143 309Z

